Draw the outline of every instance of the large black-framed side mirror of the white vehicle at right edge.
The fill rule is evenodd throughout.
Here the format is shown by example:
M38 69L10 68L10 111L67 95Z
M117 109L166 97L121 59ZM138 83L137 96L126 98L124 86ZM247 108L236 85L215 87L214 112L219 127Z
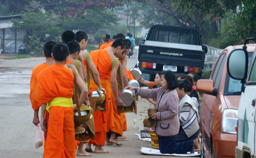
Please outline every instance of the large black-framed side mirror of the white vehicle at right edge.
M244 81L248 71L248 52L246 49L234 49L228 55L228 75L232 79Z

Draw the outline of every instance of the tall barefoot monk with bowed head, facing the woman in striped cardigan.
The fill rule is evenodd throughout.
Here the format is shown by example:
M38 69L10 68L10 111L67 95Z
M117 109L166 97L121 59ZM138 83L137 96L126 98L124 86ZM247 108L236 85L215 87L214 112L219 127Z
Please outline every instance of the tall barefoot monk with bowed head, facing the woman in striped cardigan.
M124 105L124 103L119 99L118 96L118 85L116 81L116 74L119 67L119 62L116 62L114 68L112 69L112 61L116 57L120 57L122 52L125 50L126 44L122 39L115 40L112 46L106 50L95 50L90 53L92 57L92 61L94 62L99 74L100 74L100 83L104 89L106 89L105 97L106 97L106 111L94 111L94 124L95 124L95 139L91 140L95 146L94 152L108 152L102 148L105 145L106 140L106 130L107 130L107 122L108 122L108 113L110 111L110 93L109 89L112 89L114 94L115 104L117 106ZM111 77L110 77L111 73ZM108 84L108 80L110 79L110 84ZM96 91L96 85L91 79L91 91ZM111 87L110 87L111 86ZM116 142L113 142L116 143ZM86 144L86 151L90 151L90 144Z

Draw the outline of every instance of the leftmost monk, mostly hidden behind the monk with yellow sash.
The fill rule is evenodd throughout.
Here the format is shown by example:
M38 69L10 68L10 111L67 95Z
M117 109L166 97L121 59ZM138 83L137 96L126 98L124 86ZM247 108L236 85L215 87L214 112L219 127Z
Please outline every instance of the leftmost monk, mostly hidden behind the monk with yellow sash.
M34 95L36 93L36 83L37 83L36 75L38 75L38 73L40 73L42 70L44 70L47 67L50 67L54 64L55 61L54 61L54 59L52 59L51 54L52 54L52 48L54 47L55 44L56 44L56 42L54 42L54 41L48 41L44 44L43 55L46 59L46 62L42 63L32 69L32 75L31 75L31 79L30 79L30 95L29 95L29 97L30 97L30 101L32 104L32 108L34 110L33 123L36 126L40 123L38 112L39 112L39 108L41 107L41 103L38 103L34 99ZM44 118L46 118L46 115ZM44 141L46 140L46 136L47 136L47 132L44 132Z

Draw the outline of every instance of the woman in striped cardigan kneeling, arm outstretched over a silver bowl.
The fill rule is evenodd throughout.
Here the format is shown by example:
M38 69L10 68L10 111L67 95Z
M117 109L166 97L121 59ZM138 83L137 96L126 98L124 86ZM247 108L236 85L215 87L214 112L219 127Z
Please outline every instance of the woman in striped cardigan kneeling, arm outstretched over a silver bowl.
M136 95L156 99L158 112L152 115L156 119L156 134L158 136L159 150L162 154L194 153L194 142L176 143L180 120L178 118L179 98L176 88L178 80L172 71L161 73L161 87L157 89L141 89L126 87L136 91Z

